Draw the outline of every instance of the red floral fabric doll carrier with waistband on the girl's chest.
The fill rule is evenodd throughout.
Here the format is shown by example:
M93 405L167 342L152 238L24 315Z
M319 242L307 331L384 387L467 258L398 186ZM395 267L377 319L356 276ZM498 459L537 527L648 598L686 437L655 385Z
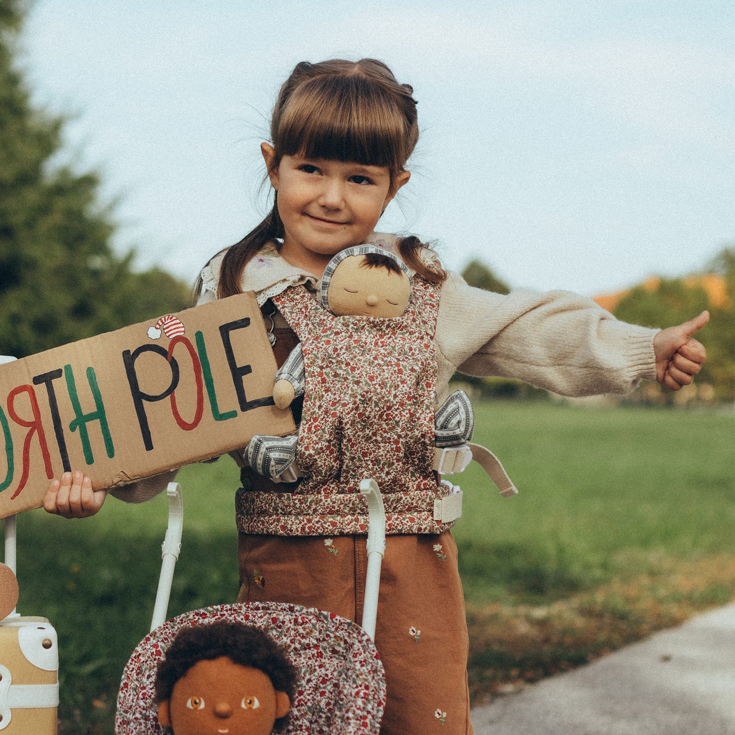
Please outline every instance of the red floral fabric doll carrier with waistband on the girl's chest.
M331 315L303 287L273 301L301 340L306 390L293 492L240 491L237 528L249 534L334 536L365 533L362 479L386 505L387 533L441 533L437 485L434 329L440 286L415 277L402 317Z

